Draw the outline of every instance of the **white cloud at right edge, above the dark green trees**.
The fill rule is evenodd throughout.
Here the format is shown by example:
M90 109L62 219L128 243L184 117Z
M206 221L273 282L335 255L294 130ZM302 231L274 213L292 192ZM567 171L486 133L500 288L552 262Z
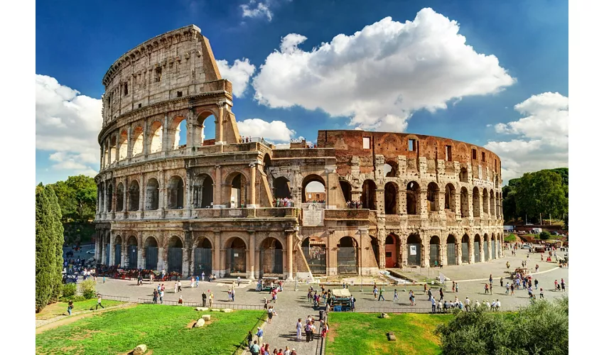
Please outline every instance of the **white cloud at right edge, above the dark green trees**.
M519 178L541 169L568 166L568 97L558 92L533 95L514 106L524 117L496 124L507 141L490 141L485 148L501 158L502 178Z

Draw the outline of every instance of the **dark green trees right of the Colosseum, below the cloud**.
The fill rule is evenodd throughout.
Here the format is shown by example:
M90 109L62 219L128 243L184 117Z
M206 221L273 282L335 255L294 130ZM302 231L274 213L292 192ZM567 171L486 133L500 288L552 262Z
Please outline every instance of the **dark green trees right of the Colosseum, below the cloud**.
M502 188L506 222L563 219L568 227L568 168L539 170L511 179Z

